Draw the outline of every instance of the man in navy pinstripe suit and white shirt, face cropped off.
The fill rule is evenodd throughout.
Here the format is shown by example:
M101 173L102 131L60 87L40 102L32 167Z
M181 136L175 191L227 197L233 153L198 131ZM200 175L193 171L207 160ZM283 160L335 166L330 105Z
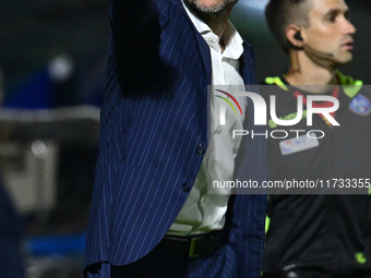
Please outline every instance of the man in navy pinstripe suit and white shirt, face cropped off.
M240 172L237 153L246 177L265 179L263 138L207 137L207 85L254 83L228 21L237 1L111 0L86 277L260 276L265 196L206 190ZM227 125L260 132L242 109Z

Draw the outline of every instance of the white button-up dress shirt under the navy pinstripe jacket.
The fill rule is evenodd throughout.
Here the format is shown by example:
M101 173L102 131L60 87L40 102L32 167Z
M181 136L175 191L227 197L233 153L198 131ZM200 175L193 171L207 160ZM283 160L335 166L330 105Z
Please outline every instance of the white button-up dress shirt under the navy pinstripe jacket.
M213 69L213 85L240 86L243 90L243 80L239 73L239 61L243 52L242 38L230 22L224 32L225 50L222 51L219 38L212 29L193 14L183 3L195 28L207 43ZM224 86L226 88L226 86ZM236 87L234 87L234 90ZM246 101L237 98L244 114ZM194 185L182 209L171 225L168 234L194 235L213 230L220 230L225 225L229 189L211 186L213 181L232 180L235 157L240 140L231 138L232 130L242 130L243 117L235 114L231 109L226 111L226 124L219 125L219 105L224 101L216 97L210 98L211 117L208 119L211 132L208 148L202 161ZM228 107L227 107L228 108ZM229 107L230 108L230 107ZM207 186L207 184L210 186Z

